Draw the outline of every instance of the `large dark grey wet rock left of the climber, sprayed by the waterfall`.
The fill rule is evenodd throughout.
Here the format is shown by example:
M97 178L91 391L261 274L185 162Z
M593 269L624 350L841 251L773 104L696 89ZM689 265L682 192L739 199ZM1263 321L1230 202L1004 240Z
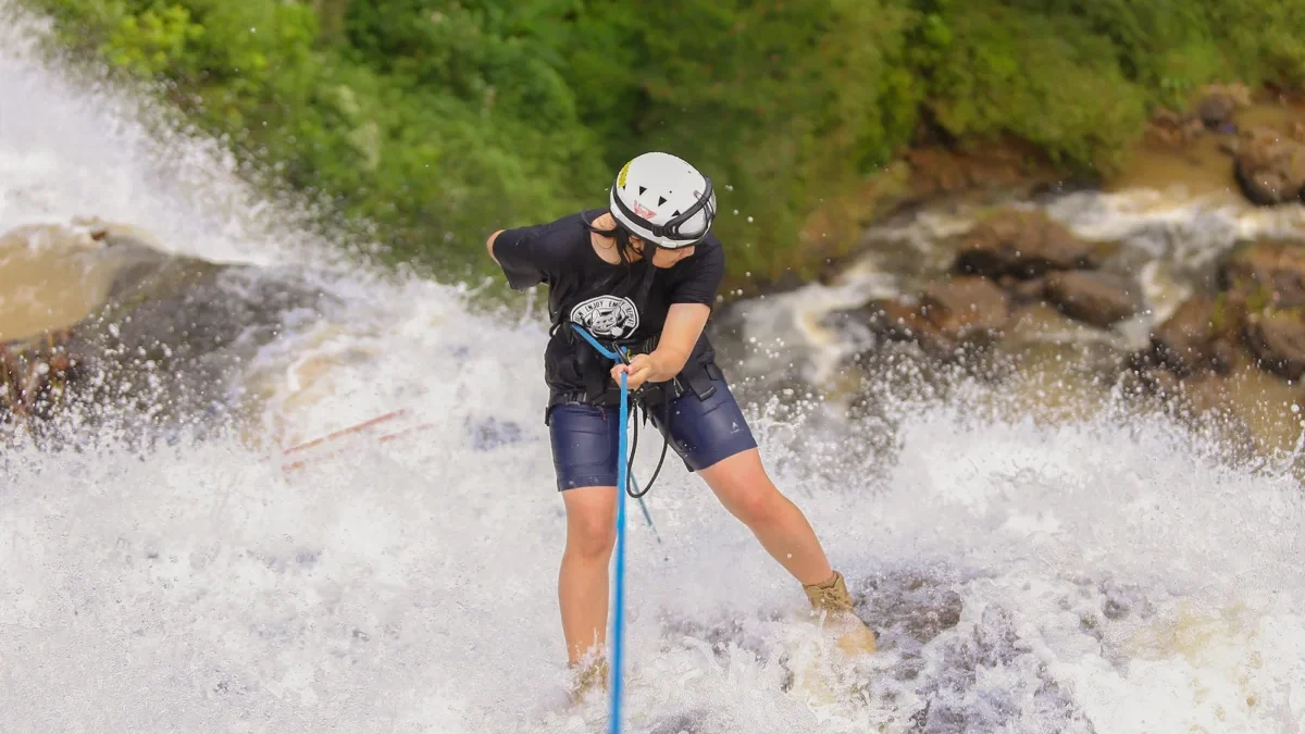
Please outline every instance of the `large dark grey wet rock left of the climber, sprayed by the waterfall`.
M114 253L107 295L67 329L64 357L25 357L21 368L26 380L27 366L43 363L37 368L57 388L44 394L56 394L63 407L82 407L84 421L159 423L210 414L230 402L236 374L261 346L296 320L318 317L330 302L298 273L172 256L130 227L100 223L86 232ZM5 346L37 354L46 338ZM78 370L90 379L72 379ZM31 387L18 389L33 394ZM86 410L106 405L114 409Z

